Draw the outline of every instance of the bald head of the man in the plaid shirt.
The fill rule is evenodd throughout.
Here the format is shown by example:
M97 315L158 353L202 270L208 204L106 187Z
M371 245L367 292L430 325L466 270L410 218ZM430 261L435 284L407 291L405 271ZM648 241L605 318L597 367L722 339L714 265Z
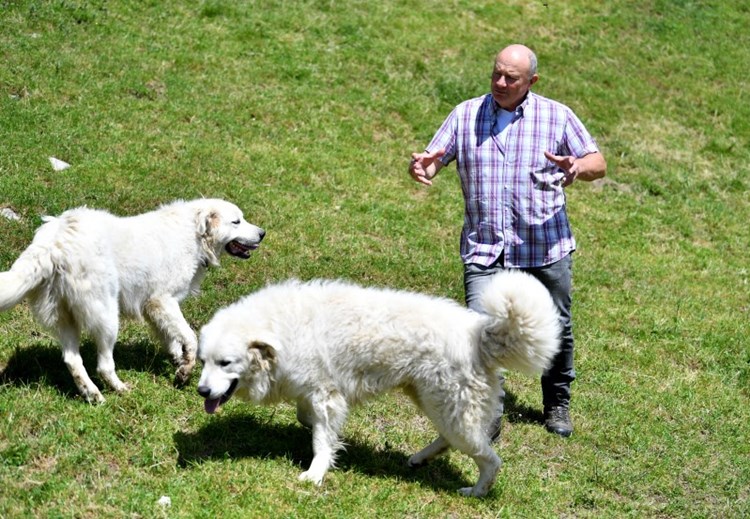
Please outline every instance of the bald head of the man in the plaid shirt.
M492 98L501 108L512 112L537 79L534 52L524 45L509 45L495 56Z

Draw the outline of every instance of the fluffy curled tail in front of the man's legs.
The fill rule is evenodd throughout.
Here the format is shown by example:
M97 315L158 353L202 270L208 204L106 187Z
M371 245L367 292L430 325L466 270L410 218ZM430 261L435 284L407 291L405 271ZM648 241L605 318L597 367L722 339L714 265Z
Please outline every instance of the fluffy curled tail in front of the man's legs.
M521 271L495 274L480 295L488 315L479 355L484 365L529 375L546 370L560 349L560 317L540 281Z

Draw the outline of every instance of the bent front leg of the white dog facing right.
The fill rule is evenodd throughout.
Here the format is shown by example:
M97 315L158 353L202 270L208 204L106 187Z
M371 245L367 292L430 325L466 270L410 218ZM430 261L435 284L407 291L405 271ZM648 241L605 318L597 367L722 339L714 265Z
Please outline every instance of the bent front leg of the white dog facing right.
M175 384L187 384L195 367L198 339L182 315L180 303L173 297L153 298L146 303L145 313L177 366Z

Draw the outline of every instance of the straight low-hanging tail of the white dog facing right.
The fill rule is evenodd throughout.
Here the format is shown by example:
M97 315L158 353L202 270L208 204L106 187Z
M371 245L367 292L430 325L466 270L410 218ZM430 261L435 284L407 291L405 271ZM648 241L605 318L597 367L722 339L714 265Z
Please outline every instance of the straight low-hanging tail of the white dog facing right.
M54 233L57 220L45 217L45 225L37 232L37 239L13 263L10 270L0 272L0 311L13 308L42 282L52 276L54 265L46 237Z

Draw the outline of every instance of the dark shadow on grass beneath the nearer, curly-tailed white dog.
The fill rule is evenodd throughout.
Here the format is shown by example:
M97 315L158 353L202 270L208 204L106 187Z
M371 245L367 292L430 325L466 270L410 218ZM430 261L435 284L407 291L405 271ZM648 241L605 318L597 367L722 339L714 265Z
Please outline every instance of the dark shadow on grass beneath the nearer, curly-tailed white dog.
M190 467L207 460L238 458L284 458L306 470L312 461L312 433L301 425L273 424L254 416L217 416L195 433L174 434L180 467ZM407 461L412 453L386 448L378 450L355 438L344 438L337 469L355 471L373 477L398 478L427 485L436 491L454 493L471 486L463 472L446 458L411 468Z

